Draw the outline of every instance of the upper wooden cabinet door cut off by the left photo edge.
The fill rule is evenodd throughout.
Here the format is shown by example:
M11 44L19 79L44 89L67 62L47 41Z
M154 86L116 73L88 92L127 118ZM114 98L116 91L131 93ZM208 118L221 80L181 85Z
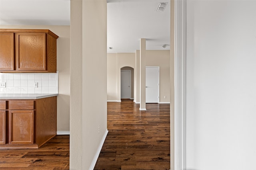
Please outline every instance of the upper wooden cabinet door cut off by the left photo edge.
M0 70L14 70L14 33L0 33Z

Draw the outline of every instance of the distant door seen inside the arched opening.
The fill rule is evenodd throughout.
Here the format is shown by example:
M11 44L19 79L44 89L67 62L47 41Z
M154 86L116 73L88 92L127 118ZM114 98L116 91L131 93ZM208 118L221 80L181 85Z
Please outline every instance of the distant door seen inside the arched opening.
M121 99L131 98L131 70L121 70Z

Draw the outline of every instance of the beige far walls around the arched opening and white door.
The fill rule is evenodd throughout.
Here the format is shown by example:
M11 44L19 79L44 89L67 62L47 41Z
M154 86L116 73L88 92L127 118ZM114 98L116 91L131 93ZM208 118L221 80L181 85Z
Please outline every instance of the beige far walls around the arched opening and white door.
M107 56L108 101L120 101L120 68L130 66L134 68L135 75L134 100L140 102L140 51L109 53ZM170 50L146 50L146 66L160 67L160 103L170 102Z

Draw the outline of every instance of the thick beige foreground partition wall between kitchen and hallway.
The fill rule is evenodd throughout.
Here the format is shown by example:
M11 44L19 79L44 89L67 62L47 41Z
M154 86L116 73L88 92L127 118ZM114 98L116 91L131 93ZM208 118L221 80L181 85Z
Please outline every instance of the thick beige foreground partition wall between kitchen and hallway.
M91 170L107 132L107 3L70 4L70 169Z

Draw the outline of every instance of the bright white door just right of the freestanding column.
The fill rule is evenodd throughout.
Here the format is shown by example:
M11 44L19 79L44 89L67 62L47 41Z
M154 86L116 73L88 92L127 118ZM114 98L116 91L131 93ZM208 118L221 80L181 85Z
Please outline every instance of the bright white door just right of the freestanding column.
M158 103L159 67L146 67L146 103Z

